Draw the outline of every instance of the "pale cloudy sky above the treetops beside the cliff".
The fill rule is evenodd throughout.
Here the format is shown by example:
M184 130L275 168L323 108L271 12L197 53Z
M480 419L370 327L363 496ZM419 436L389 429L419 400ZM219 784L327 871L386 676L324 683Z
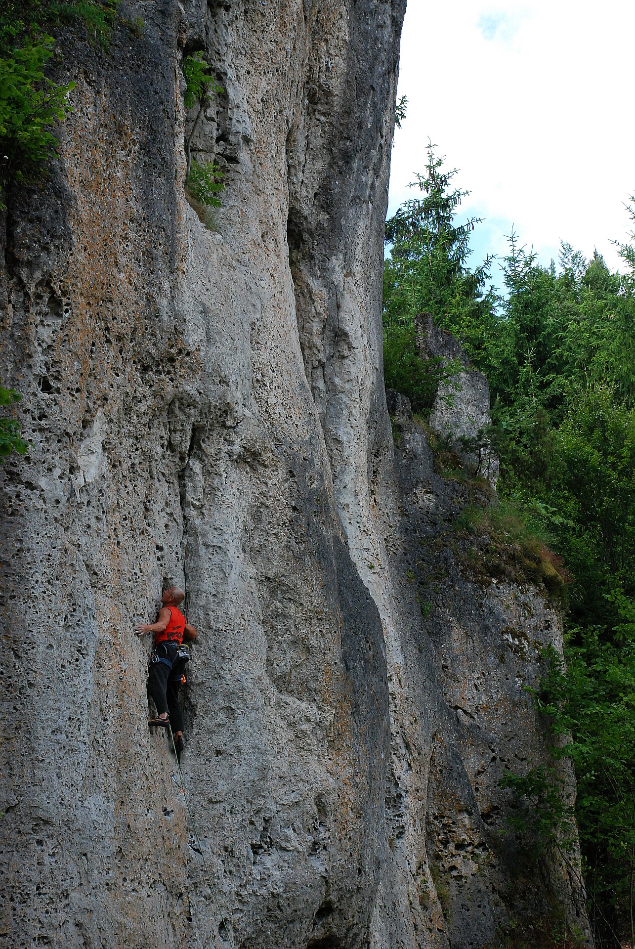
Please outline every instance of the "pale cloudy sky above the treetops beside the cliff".
M633 0L408 0L388 213L416 196L430 138L472 193L465 214L486 219L475 257L505 253L514 225L545 264L564 238L616 268L610 239L633 227L634 60Z

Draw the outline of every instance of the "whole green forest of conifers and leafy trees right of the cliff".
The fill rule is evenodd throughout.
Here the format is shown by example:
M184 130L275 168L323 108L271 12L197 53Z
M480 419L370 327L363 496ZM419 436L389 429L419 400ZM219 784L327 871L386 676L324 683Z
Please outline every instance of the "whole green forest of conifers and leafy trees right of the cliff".
M576 771L589 918L598 946L635 944L635 247L618 245L623 266L611 272L597 252L587 259L562 241L544 267L512 233L498 293L494 258L471 266L480 221L458 219L468 193L455 174L430 145L420 196L386 222L385 384L415 411L429 408L422 312L489 381L498 496L571 579L566 662L546 657L536 701L567 742L554 741L554 757L570 756ZM523 792L521 779L515 787Z

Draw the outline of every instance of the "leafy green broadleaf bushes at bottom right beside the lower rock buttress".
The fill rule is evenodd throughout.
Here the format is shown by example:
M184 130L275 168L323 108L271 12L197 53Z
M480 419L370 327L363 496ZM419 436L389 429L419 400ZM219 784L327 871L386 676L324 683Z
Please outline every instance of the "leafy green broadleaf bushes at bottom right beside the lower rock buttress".
M635 605L607 594L622 622L576 627L567 666L546 652L548 675L537 700L578 782L577 818L584 847L590 914L604 942L617 930L632 942L635 887Z

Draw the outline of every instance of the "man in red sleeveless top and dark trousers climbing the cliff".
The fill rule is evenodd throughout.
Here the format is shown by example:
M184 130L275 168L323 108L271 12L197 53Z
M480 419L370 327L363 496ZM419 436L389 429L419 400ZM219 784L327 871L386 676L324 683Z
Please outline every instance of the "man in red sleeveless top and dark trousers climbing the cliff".
M156 623L140 623L135 629L138 636L155 634L155 648L148 672L148 695L157 706L157 717L148 718L148 725L171 727L177 757L183 751L183 713L178 704L178 688L183 680L185 661L178 656L183 637L196 642L196 629L187 622L178 606L185 594L177 586L163 591L161 608ZM183 650L185 652L185 650Z

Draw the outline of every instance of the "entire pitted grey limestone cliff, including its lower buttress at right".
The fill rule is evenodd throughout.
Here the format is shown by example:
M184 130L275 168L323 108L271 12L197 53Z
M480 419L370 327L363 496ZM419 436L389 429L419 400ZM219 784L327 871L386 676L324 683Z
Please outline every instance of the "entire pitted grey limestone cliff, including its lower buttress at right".
M514 915L497 777L544 756L521 681L560 632L453 565L415 598L451 497L407 418L395 456L383 395L403 6L166 0L107 54L63 38L75 111L5 222L0 378L32 441L1 472L11 949L485 946ZM226 169L215 231L183 193L196 49L224 88L194 139ZM145 724L132 630L166 577L199 631L183 765L231 936ZM584 928L551 875L528 918Z

